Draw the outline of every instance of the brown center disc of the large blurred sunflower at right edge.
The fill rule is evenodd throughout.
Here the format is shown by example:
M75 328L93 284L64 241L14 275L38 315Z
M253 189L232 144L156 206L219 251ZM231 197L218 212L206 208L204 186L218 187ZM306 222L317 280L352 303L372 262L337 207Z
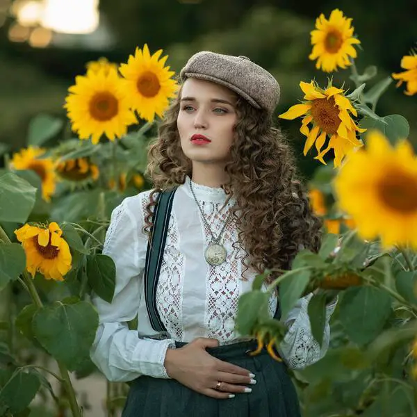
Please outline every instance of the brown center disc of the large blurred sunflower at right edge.
M379 183L379 196L395 211L417 211L417 179L405 172L390 173Z

